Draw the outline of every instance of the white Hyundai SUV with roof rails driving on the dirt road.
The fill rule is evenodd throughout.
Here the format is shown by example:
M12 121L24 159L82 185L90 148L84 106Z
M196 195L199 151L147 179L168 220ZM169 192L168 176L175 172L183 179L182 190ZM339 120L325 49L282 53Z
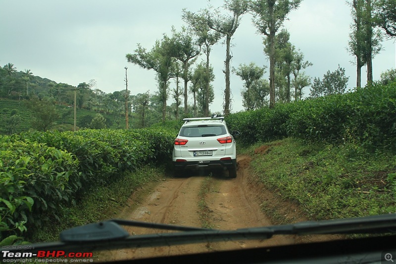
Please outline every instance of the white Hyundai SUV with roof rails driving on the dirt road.
M185 118L173 148L175 174L187 169L228 169L237 177L237 152L234 136L224 117Z

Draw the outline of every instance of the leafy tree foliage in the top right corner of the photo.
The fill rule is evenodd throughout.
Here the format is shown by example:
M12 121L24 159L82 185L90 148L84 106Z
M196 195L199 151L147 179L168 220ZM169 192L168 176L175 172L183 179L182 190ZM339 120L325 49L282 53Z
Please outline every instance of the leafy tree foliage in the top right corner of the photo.
M376 0L374 23L383 28L389 37L396 37L396 1Z

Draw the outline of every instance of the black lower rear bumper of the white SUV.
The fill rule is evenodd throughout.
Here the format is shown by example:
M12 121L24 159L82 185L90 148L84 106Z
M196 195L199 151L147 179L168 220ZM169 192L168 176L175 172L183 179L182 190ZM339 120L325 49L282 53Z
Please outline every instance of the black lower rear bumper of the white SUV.
M173 161L175 170L228 169L237 165L237 159Z

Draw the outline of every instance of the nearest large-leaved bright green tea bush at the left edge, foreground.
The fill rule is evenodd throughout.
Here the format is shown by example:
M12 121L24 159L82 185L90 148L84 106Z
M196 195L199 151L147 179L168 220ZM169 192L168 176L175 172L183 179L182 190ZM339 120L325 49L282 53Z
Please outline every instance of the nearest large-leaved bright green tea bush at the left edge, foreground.
M79 162L70 153L1 137L0 157L0 231L23 232L27 222L40 226L73 203Z

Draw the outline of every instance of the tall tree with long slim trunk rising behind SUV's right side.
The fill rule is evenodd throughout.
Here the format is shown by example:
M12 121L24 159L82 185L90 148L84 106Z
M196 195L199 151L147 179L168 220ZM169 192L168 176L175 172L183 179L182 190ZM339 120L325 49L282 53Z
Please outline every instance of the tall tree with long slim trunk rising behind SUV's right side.
M226 0L224 8L231 12L231 15L223 15L219 9L215 11L207 10L207 25L214 31L226 37L226 60L225 60L225 79L226 88L224 91L224 115L230 113L231 105L231 90L230 90L230 61L231 61L231 38L240 25L240 19L243 14L247 12L247 0Z

